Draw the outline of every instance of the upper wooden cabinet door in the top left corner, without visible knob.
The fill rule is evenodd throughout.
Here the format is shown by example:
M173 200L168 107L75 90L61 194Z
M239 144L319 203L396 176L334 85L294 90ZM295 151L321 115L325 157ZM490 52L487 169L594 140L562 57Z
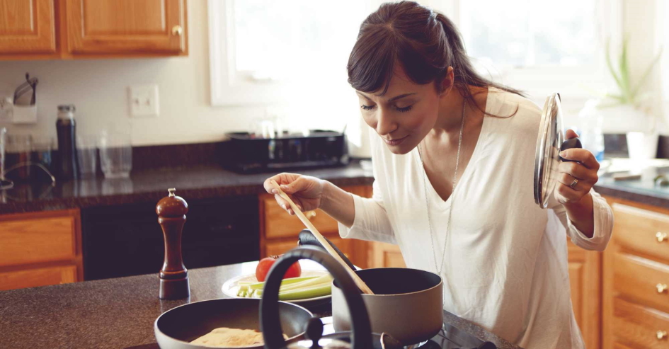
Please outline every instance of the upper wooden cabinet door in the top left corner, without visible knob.
M2 55L55 51L53 0L0 0Z

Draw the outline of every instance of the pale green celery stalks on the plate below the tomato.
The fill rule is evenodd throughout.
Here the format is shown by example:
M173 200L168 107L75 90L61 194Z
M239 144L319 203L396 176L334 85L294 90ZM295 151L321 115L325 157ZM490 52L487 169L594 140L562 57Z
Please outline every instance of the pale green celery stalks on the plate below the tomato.
M261 298L265 282L240 282L237 297ZM332 292L332 275L290 278L281 281L279 300L290 301L328 296Z

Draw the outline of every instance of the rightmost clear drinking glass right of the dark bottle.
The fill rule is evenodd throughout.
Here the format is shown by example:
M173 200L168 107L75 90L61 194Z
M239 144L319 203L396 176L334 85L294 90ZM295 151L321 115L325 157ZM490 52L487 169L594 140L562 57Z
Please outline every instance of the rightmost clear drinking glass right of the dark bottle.
M98 139L100 165L105 178L127 178L132 170L130 134L102 132Z

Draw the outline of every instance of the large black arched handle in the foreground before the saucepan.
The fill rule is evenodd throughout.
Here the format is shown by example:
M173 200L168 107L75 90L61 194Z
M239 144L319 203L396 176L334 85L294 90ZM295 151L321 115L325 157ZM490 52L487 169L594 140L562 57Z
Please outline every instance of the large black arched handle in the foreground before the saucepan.
M370 316L367 314L365 303L362 302L362 296L358 286L353 282L353 278L348 275L344 267L339 264L332 256L320 248L305 246L295 248L284 253L270 268L265 281L265 290L261 299L260 321L263 339L266 349L286 348L286 342L283 339L283 331L279 321L279 287L282 276L285 275L290 265L300 259L310 259L321 263L334 280L341 286L344 293L351 321L353 322L351 330L351 342L354 349L373 348L372 345L372 326L370 325Z

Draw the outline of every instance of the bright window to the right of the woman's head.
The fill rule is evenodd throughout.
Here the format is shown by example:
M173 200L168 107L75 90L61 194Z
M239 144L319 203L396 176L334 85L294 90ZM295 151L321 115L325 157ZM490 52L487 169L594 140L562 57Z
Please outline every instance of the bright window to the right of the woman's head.
M604 49L621 40L620 0L430 2L456 23L481 72L539 103L560 92L578 110L611 86Z

